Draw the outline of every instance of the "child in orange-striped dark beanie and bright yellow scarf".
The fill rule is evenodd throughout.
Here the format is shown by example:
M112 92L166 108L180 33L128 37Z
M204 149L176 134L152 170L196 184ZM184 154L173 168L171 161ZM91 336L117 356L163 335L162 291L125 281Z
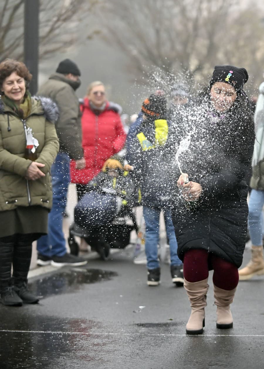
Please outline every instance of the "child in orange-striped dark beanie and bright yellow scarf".
M159 220L163 210L171 256L172 282L183 286L182 262L177 256L177 241L171 220L171 196L175 156L173 127L167 121L167 102L162 94L151 94L141 106L143 121L130 128L127 135L128 163L134 166L131 176L141 191L145 220L145 253L149 286L160 283L158 259Z

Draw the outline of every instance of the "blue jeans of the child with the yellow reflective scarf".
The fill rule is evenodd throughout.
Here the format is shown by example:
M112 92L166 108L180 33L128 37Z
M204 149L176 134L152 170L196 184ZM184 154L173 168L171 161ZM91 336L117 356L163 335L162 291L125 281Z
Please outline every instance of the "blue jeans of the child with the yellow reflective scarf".
M145 252L147 256L147 268L159 268L158 260L158 243L160 241L160 211L161 209L153 209L143 206L143 215L145 220ZM182 265L182 261L178 258L174 226L171 220L171 210L164 210L165 226L167 237L169 239L169 250L171 254L171 265Z

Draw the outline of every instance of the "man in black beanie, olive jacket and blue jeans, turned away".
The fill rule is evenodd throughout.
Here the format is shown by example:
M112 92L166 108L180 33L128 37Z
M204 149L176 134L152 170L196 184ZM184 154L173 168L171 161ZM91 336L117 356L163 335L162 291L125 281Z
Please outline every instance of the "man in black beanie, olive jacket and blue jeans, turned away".
M53 203L49 213L48 235L37 242L38 265L64 266L84 265L83 258L67 253L62 230L63 213L66 207L68 184L70 182L69 163L73 159L76 169L85 168L82 148L82 128L79 100L75 91L80 86L80 70L70 59L61 61L38 94L50 97L59 108L56 132L60 142L59 154L51 167Z

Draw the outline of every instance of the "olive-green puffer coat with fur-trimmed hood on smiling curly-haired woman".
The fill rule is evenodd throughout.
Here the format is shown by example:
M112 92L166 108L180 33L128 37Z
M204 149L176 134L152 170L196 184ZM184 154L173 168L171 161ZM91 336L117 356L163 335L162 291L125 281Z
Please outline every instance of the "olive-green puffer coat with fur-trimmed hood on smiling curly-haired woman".
M38 140L36 162L45 164L40 170L45 177L27 180L27 169L32 163L25 159L26 137L24 123L0 99L0 211L18 206L52 206L50 169L59 151L59 140L54 123L58 109L50 99L31 98L31 114L24 120Z

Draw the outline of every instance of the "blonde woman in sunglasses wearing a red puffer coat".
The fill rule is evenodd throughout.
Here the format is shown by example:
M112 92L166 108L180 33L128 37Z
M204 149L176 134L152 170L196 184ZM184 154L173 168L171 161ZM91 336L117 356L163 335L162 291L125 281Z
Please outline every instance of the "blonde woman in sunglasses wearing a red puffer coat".
M121 107L106 100L102 82L92 82L81 105L82 146L85 169L76 169L71 161L71 182L76 183L78 201L85 193L86 184L95 177L104 162L119 152L126 141L121 123Z

